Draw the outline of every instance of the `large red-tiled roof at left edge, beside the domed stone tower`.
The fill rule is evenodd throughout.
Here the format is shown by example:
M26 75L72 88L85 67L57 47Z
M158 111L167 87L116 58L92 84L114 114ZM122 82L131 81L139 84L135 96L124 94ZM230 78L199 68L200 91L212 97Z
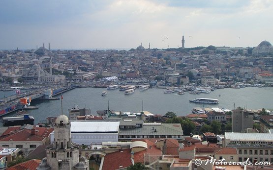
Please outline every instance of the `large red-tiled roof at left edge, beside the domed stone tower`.
M34 127L34 129L35 135L31 135L30 129L22 129L17 130L15 133L9 136L1 136L0 141L42 141L44 138L49 137L50 133L54 130L54 128L46 127Z

